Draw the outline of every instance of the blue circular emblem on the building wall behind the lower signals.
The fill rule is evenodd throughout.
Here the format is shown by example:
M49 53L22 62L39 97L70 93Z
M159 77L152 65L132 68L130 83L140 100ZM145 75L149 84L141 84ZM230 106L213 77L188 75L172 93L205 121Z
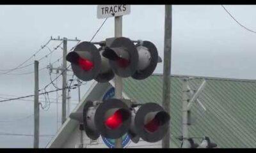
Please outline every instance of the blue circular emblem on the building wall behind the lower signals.
M102 100L107 100L107 99L110 99L110 98L113 98L115 96L115 88L114 87L111 87L111 89L109 89L106 94L104 94ZM110 138L105 138L103 136L102 137L102 140L103 142L109 147L109 148L115 148L115 139L110 139ZM130 142L130 137L127 135L127 133L125 133L123 136L122 136L122 146L123 148Z

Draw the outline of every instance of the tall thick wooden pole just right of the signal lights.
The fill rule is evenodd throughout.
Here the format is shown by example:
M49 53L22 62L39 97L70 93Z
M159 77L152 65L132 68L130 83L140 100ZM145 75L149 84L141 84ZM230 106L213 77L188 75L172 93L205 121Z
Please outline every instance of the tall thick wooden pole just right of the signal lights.
M165 5L164 20L164 68L163 68L163 108L170 114L170 79L172 56L172 5ZM170 122L169 122L170 123ZM162 148L170 148L170 124L162 140Z

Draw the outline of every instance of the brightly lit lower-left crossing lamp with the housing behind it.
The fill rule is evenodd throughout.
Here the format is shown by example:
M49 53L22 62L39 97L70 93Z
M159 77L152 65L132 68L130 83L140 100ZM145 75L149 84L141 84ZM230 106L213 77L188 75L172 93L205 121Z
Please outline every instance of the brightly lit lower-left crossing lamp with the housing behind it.
M92 140L96 140L100 135L119 138L131 124L128 106L118 99L108 99L104 103L87 101L83 112L71 113L70 118L83 123L86 135Z

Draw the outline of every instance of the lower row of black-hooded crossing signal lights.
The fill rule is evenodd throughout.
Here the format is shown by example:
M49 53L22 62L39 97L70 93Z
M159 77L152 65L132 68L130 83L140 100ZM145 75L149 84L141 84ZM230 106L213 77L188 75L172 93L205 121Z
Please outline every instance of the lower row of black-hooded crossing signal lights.
M132 142L140 138L146 142L157 142L168 129L170 115L156 103L146 103L135 113L131 105L120 99L87 101L83 112L71 113L70 118L83 123L86 135L95 140L120 138L128 132Z

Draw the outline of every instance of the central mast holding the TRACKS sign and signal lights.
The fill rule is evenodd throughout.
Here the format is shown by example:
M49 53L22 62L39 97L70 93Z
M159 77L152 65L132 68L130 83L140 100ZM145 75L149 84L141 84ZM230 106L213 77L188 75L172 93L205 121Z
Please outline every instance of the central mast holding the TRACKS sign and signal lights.
M115 17L115 37L122 36L122 16ZM123 82L122 78L115 75L115 98L122 99ZM115 148L122 148L122 137L115 140Z

